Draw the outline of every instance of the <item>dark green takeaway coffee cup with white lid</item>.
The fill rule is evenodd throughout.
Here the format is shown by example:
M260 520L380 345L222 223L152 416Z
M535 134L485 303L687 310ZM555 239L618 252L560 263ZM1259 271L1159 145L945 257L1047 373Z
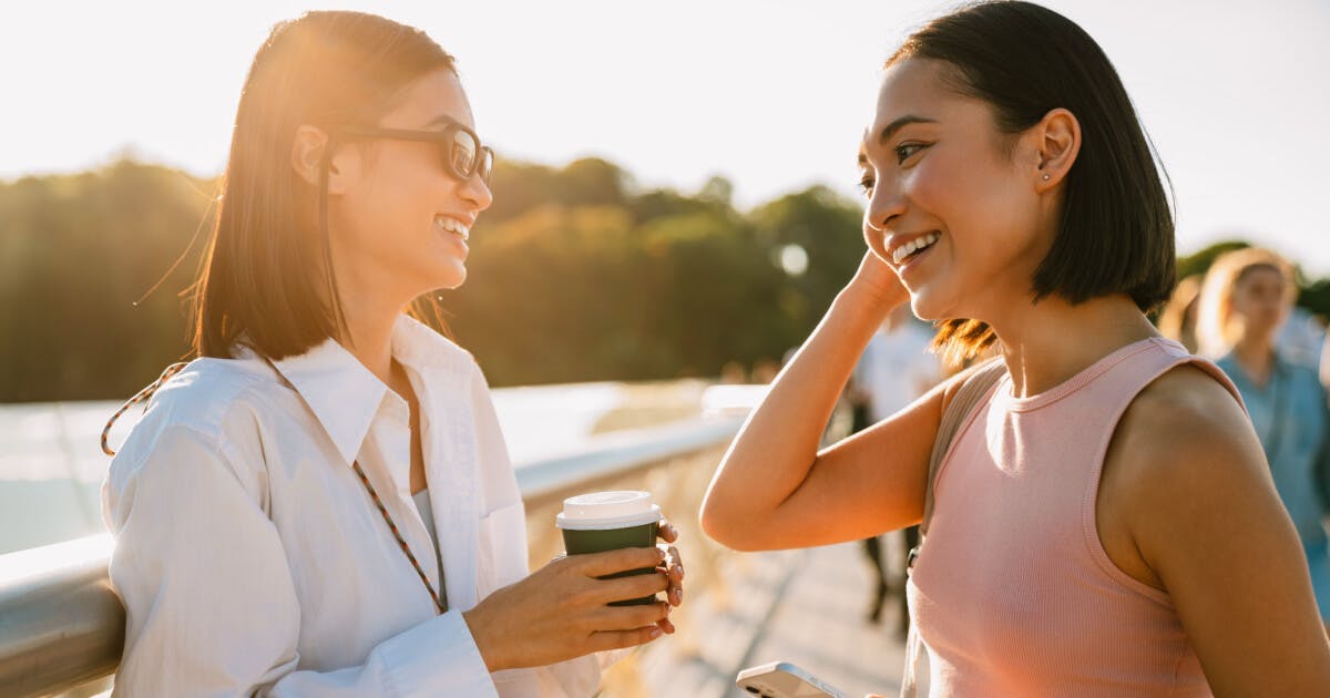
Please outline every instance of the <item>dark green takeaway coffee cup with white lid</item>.
M602 553L620 548L654 548L661 508L650 492L591 492L564 500L555 525L564 532L568 554ZM650 574L654 568L629 569L601 578ZM652 604L654 596L614 601L610 606Z

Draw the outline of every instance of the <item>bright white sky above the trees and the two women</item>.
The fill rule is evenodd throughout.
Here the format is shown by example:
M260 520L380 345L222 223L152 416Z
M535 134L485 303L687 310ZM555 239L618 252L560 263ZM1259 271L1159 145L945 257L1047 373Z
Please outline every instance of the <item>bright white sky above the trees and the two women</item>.
M1117 65L1177 190L1178 249L1234 235L1330 275L1330 4L1049 0ZM481 137L646 186L712 174L751 206L814 182L854 195L876 69L926 0L329 3L458 56ZM0 179L132 149L217 174L241 82L307 3L15 3L0 9Z

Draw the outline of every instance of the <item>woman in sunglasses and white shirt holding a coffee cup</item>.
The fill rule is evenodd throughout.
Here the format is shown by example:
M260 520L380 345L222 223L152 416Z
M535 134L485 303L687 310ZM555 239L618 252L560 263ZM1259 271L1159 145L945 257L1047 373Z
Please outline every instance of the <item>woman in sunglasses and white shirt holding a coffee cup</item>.
M259 48L198 358L145 390L104 489L118 693L588 695L592 653L673 632L682 568L657 548L528 576L485 380L404 312L466 279L492 168L423 32L311 12Z

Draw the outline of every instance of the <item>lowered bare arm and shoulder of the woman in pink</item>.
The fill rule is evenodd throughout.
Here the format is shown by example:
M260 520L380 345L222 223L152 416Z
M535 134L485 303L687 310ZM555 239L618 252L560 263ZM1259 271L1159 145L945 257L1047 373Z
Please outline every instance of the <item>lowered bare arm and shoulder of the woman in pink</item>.
M1194 368L1138 400L1127 521L1216 695L1330 695L1330 643L1302 545L1250 423Z

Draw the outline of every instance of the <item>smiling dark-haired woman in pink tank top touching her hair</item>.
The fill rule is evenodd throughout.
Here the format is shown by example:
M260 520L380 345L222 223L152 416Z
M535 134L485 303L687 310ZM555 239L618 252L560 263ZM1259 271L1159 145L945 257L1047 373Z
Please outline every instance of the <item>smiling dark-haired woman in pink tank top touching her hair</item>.
M970 374L822 452L894 307L1005 374L934 480L910 606L938 695L1330 695L1298 537L1233 384L1158 336L1173 219L1121 80L1080 27L983 3L915 32L859 150L868 251L716 473L738 549L922 520Z

